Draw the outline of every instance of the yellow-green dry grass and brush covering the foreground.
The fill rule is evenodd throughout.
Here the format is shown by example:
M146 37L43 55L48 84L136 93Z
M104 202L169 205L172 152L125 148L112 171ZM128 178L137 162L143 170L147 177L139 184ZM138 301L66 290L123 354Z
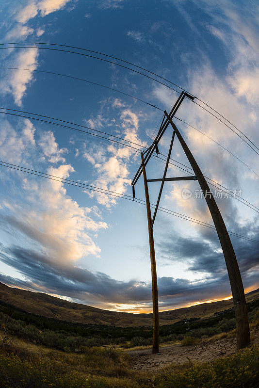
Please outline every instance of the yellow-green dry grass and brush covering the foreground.
M108 347L61 352L2 334L0 348L1 387L8 388L254 388L259 377L256 345L211 363L172 364L155 375L134 372L129 355Z

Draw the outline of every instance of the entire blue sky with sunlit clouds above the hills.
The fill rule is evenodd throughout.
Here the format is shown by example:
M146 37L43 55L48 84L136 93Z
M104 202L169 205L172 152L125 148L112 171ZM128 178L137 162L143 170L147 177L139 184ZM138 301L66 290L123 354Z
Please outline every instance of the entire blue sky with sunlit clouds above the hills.
M206 101L258 145L258 11L256 1L6 1L0 6L0 42L59 43L135 63ZM1 49L0 67L86 79L167 110L178 97L125 68L29 46L34 48ZM143 146L162 118L161 111L100 86L17 69L0 69L0 101L1 107L60 118ZM259 174L258 155L209 113L185 100L178 117ZM258 175L200 132L176 124L204 175L242 190L242 197L259 207ZM0 132L1 161L131 194L140 154L125 142L116 145L5 114L0 114ZM163 154L170 135L168 128L160 146ZM177 141L172 158L189 165ZM152 160L148 177L161 177L163 166ZM168 175L185 173L170 165ZM102 308L150 310L144 206L1 166L0 182L0 281ZM194 193L199 187L197 182L168 182L161 205L211 224L204 198L183 199L183 189ZM158 191L154 183L151 202ZM142 178L136 195L144 198ZM217 203L228 230L259 240L258 211L233 198ZM154 235L160 309L230 296L214 230L158 212ZM245 289L257 288L258 243L231 240Z

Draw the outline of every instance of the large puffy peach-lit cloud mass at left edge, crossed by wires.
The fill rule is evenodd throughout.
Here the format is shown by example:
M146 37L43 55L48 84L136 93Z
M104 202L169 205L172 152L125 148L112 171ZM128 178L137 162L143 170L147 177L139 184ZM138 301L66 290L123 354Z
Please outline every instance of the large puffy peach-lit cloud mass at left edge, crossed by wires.
M50 166L47 173L69 178L74 168L65 163L61 156L65 149L58 146L51 131L41 130L35 136L35 128L28 119L18 121L16 128L14 130L7 120L0 123L1 160L39 171L45 170L46 159L55 164L63 163ZM99 256L100 248L91 235L107 229L108 225L96 206L81 207L67 195L64 183L59 180L37 179L4 169L1 180L6 179L12 184L12 191L1 194L0 216L4 230L20 236L28 246L37 246L39 252L45 252L53 262Z

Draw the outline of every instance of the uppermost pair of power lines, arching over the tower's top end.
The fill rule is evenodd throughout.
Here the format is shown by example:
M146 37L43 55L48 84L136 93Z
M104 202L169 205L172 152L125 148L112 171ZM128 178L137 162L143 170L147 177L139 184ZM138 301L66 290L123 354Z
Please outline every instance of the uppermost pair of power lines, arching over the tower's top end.
M98 52L98 51L94 51L94 50L90 50L90 49L84 49L84 48L79 48L79 47L75 47L75 46L68 46L68 45L61 45L61 44L58 44L58 43L40 43L40 42L14 42L14 43L1 43L0 44L0 46L3 46L3 45L15 45L15 44L37 44L37 45L49 45L49 46L59 46L59 47L67 47L67 48L71 48L71 49L79 49L79 50L84 50L84 51L88 51L88 52L93 52L93 53L96 53L96 54L99 54L99 55L104 55L104 56L106 56L106 57L109 57L109 58L113 58L113 59L116 59L116 60L118 60L118 61L121 61L121 62L124 62L124 63L127 63L128 65L132 65L132 66L135 66L135 67L137 67L137 68L139 68L139 69L142 69L142 70L144 70L144 71L146 71L147 73L149 73L149 74L153 74L153 75L155 75L156 77L158 77L158 78L160 78L160 79L162 79L162 80L164 80L164 81L167 81L167 82L169 82L169 83L171 83L172 85L174 85L174 86L177 86L179 89L181 89L181 90L183 90L184 92L187 92L188 94L190 94L190 95L192 95L194 98L196 98L197 100L199 100L200 102L202 102L203 104L205 104L208 108L210 108L211 110L213 110L215 113L217 113L217 114L219 114L222 118L224 118L224 120L226 120L229 124L231 124L235 129L237 129L240 133L242 133L243 134L243 136L247 139L247 140L249 140L249 142L251 143L251 144L253 144L258 150L259 150L259 148L240 130L240 129L238 129L234 124L232 124L226 117L224 117L222 114L220 114L219 112L217 112L215 109L213 109L210 105L208 105L206 102L204 102L204 101L202 101L201 99L199 99L198 97L195 97L194 96L194 94L192 94L192 93L190 93L190 92L188 92L187 90L185 90L184 88L182 88L181 86L179 86L179 85L177 85L176 83L174 83L174 82L172 82L172 81L170 81L170 80L167 80L166 78L164 78L164 77L162 77L162 76L160 76L159 74L156 74L156 73L154 73L154 72L152 72L152 71L150 71L150 70L147 70L146 68L144 68L144 67L141 67L141 66L138 66L138 65L135 65L135 64L133 64L133 63L131 63L131 62L128 62L128 61L125 61L125 60L123 60L123 59L120 59L120 58L117 58L117 57L114 57L114 56L111 56L111 55L108 55L108 54L105 54L105 53L102 53L102 52ZM36 49L36 48L38 48L38 49L49 49L49 48L42 48L42 47L11 47L12 49L16 49L16 48L32 48L32 49ZM9 49L9 48L0 48L0 49ZM138 72L138 71L136 71L136 70L134 70L134 69L130 69L129 67L127 67L127 66L123 66L123 65L120 65L120 64L117 64L117 63L114 63L114 62L111 62L111 61L107 61L107 60L105 60L105 59L103 59L103 58L97 58L97 57L94 57L94 56L91 56L91 55L87 55L87 54L82 54L82 53L75 53L74 51L69 51L69 50L61 50L61 49L52 49L52 50L57 50L57 51L64 51L64 52L70 52L70 53L74 53L74 54L79 54L79 55L84 55L84 56L88 56L88 57L90 57L90 58L95 58L95 59L99 59L100 61L105 61L105 62L108 62L108 63L112 63L113 65L117 65L117 66L121 66L121 67L124 67L124 68L126 68L126 69L128 69L128 70L132 70L132 71L134 71L134 72L136 72L136 73L138 73L138 74L141 74L141 75L143 75L143 76L145 76L145 77L147 77L147 78L150 78L150 79L152 79L153 81L156 81L156 82L159 82L159 83L161 83L162 85L164 85L164 86L166 86L166 87L168 87L169 89L172 89L172 90L174 90L175 92L177 92L177 93L179 93L177 90L175 90L175 89L173 89L173 88L171 88L170 86L168 86L168 85L166 85L166 84L164 84L163 82L160 82L160 81L158 81L158 80L156 80L156 79L154 79L154 78L152 78L152 77L149 77L149 76L147 76L146 74L143 74L143 73L141 73L141 72ZM179 93L180 94L180 93ZM195 102L195 101L194 101ZM195 102L196 103L196 102ZM196 103L197 104L197 103ZM197 104L197 105L199 105L199 104ZM205 109L204 107L202 107L201 105L199 105L201 108L203 108L203 109ZM205 109L206 110L206 109ZM226 125L227 126L227 128L229 128L229 129L231 129L226 123L224 123L222 120L220 120L217 116L215 116L213 113L211 113L210 111L207 111L208 113L210 113L210 114L212 114L215 118L217 118L219 121L221 121L224 125ZM232 129L231 129L232 130ZM235 131L234 131L234 133L236 133ZM237 133L236 133L237 134ZM238 134L237 134L238 135ZM244 141L244 139L241 137L241 136L239 136L243 141ZM246 143L246 142L245 142ZM250 145L249 145L250 146ZM250 146L251 147L251 146ZM252 148L252 147L251 147ZM253 148L252 148L253 149ZM255 151L255 150L254 150ZM256 151L255 151L256 152Z

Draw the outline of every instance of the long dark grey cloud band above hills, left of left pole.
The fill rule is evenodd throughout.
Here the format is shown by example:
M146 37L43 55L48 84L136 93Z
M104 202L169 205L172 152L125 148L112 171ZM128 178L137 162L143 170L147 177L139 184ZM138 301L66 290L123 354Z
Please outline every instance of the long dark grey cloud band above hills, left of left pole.
M103 273L93 274L86 269L76 266L52 263L44 254L20 247L1 246L0 259L2 262L15 268L22 274L26 281L16 280L21 287L34 287L39 290L46 288L48 292L59 293L77 299L91 299L89 294L106 301L118 302L130 300L138 301L147 299L150 293L145 283L131 280L120 282ZM28 280L27 280L28 279Z

